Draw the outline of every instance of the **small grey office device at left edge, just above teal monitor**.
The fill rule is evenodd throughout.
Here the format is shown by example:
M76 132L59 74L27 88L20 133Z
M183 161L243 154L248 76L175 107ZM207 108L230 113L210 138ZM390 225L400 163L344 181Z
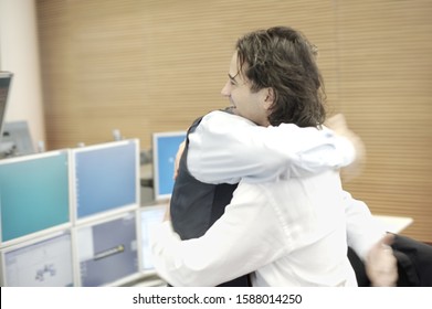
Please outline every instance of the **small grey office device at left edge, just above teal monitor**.
M27 121L4 124L0 151L3 157L17 157L35 152Z

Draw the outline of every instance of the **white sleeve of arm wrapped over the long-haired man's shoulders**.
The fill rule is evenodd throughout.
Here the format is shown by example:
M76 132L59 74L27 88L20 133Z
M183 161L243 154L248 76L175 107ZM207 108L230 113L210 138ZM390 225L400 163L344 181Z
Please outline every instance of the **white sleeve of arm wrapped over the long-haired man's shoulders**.
M206 115L189 135L188 169L206 183L274 181L350 164L352 143L329 129L260 127L224 111Z

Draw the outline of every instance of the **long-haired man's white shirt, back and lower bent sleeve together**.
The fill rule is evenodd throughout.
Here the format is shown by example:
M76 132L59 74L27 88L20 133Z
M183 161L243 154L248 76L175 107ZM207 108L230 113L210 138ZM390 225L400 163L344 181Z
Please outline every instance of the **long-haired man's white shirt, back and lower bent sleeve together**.
M168 222L160 225L155 267L173 286L215 286L253 271L253 286L356 286L344 211L335 171L240 182L202 237L182 242Z

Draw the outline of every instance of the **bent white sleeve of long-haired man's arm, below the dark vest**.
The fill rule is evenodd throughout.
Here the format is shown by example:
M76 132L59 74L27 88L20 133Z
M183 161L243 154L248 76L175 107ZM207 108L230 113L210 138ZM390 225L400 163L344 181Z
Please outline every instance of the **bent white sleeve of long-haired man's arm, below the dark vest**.
M150 247L158 275L172 286L217 286L280 258L285 237L268 207L260 190L239 187L225 213L200 238L180 241L170 222L156 226Z

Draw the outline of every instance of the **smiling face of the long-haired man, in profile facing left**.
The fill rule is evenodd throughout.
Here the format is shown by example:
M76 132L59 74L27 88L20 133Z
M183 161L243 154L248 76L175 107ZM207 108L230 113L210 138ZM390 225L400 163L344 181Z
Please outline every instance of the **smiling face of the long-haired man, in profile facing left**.
M233 113L247 118L259 126L268 126L268 107L271 106L268 89L264 88L257 93L251 92L250 82L239 72L238 54L231 58L229 79L221 90L228 97Z

